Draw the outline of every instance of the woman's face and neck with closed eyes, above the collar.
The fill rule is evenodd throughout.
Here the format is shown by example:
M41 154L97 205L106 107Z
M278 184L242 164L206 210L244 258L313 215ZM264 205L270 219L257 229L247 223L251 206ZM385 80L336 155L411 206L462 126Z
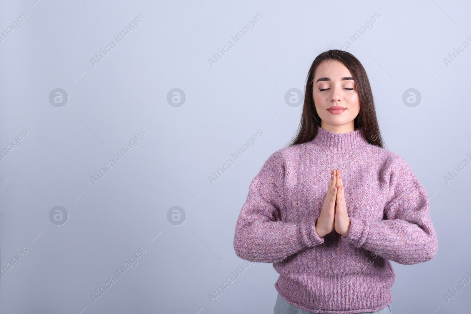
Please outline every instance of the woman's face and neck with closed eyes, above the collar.
M314 73L312 94L321 128L346 133L355 129L360 111L357 84L338 60L321 62Z

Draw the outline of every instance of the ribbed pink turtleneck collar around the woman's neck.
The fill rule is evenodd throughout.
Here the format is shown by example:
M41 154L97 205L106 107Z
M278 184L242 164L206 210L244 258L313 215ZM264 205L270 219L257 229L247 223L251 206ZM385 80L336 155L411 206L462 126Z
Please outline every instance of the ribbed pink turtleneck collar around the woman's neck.
M348 133L335 133L320 127L317 128L317 136L310 143L325 151L337 153L359 151L371 145L366 140L363 129L357 129Z

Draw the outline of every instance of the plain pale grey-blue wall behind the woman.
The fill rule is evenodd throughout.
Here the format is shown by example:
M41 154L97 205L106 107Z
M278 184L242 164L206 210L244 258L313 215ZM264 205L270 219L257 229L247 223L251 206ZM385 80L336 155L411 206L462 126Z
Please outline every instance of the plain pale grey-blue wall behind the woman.
M252 178L294 135L309 65L346 41L365 66L387 148L405 158L430 198L437 256L393 262L394 313L469 313L471 279L468 165L471 161L467 1L1 1L0 266L28 251L0 279L1 313L273 313L278 275L249 266L211 303L212 290L241 266L235 222ZM113 36L143 12L119 43ZM244 37L231 39L257 12ZM353 42L349 36L379 12ZM101 62L90 58L114 40ZM211 67L208 58L234 47ZM457 55L456 55L457 56ZM466 71L465 71L466 70ZM53 89L69 97L57 108ZM179 88L186 102L171 106ZM422 101L409 107L406 89ZM95 185L90 176L145 131ZM261 130L263 135L211 185L208 177ZM114 158L115 159L115 158ZM232 159L232 158L231 158ZM115 159L116 161L116 159ZM65 224L49 212L66 209ZM183 224L167 212L180 206ZM90 297L139 248L138 264L94 303ZM116 277L116 276L114 276ZM434 312L435 311L435 312Z

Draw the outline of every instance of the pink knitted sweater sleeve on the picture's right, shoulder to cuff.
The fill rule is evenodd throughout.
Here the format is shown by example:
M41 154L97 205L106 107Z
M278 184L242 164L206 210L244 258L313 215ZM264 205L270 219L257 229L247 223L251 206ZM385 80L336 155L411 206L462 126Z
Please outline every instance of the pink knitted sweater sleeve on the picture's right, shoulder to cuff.
M422 263L438 250L429 198L406 161L396 153L392 158L386 219L350 218L349 234L341 239L399 264Z

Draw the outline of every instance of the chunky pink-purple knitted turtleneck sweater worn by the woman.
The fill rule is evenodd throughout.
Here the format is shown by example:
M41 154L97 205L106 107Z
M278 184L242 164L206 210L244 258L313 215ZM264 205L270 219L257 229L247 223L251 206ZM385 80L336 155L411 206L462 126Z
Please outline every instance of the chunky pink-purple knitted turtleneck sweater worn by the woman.
M341 169L350 217L347 237L319 238L332 169ZM432 259L437 235L427 193L397 153L369 144L358 129L318 129L308 143L282 148L253 178L235 226L237 256L273 263L289 303L316 313L375 312L392 302L390 260Z

